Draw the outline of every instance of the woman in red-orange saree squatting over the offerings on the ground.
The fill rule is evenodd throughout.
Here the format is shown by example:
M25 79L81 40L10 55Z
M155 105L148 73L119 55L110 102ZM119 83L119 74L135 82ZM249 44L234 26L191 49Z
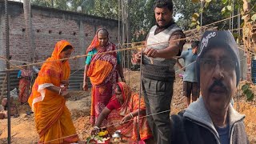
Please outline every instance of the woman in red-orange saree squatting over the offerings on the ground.
M138 117L139 95L132 93L130 87L125 82L118 82L115 94L107 106L102 110L99 118L92 130L92 134L98 131L98 127L104 118L107 117L107 130L113 134L116 130L121 130L123 139L136 142L137 117ZM140 115L145 116L146 106L144 99L140 102ZM120 125L118 123L121 122ZM139 137L144 142L152 142L152 133L146 117L139 118Z

